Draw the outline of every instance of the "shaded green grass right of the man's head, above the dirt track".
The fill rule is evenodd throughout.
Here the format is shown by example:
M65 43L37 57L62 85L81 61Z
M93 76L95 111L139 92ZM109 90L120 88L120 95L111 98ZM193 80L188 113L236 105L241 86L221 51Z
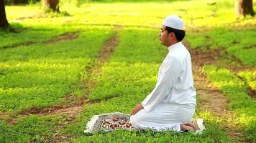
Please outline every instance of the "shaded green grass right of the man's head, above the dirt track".
M242 61L242 64L255 66L255 31L255 28L211 29L209 31L191 32L186 40L193 49L201 49L202 51L219 49L224 58L225 56L234 56ZM226 55L226 52L228 55Z

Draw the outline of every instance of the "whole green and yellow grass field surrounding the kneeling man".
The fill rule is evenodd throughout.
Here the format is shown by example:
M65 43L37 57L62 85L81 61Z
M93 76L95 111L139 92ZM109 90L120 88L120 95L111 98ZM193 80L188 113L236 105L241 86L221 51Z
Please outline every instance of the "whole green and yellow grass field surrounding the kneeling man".
M17 32L0 31L0 142L256 142L256 19L238 18L232 0L207 3L63 0L60 14L46 15L40 4L6 6ZM232 115L216 116L201 106L206 101L199 94L195 116L203 117L207 128L201 135L83 134L93 115L129 114L154 88L168 53L158 34L169 14L185 21L191 51L217 52L213 64L193 66L228 99L223 110ZM100 61L101 49L113 38L114 51ZM73 112L76 116L40 112L72 107L81 99L89 102L81 104L81 113Z

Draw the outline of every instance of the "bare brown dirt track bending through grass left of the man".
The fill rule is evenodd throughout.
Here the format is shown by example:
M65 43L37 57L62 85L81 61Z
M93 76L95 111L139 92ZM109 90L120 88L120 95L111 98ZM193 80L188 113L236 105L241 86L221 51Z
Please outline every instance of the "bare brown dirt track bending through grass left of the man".
M83 110L83 105L88 103L96 103L96 101L90 101L87 99L88 94L91 93L91 89L95 87L95 83L93 82L93 77L95 74L99 74L101 66L109 60L111 57L111 54L114 52L116 46L117 46L117 32L121 29L121 27L115 27L116 34L114 36L111 36L111 38L106 41L101 51L99 51L97 55L96 64L93 66L90 66L86 68L86 72L88 73L88 76L86 79L83 80L85 86L84 86L84 92L86 93L85 98L76 99L75 103L71 104L65 104L61 106L52 106L47 107L45 109L40 109L38 107L32 107L30 109L27 109L25 111L19 112L19 118L12 118L9 120L9 125L14 125L18 121L18 119L28 117L29 115L37 115L39 117L45 116L45 115L63 115L65 114L70 118L69 122L72 122L73 119L76 119L76 116L80 114ZM73 100L73 94L70 94L65 97L66 100ZM67 123L65 123L67 124Z

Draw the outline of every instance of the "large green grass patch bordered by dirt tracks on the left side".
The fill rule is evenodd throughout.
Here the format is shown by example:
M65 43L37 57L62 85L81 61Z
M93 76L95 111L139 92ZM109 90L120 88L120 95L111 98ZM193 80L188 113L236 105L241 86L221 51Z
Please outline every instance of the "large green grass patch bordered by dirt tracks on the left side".
M70 93L83 96L86 68L95 64L96 54L114 34L106 27L85 30L73 41L1 49L0 110L44 108L70 102L64 99Z

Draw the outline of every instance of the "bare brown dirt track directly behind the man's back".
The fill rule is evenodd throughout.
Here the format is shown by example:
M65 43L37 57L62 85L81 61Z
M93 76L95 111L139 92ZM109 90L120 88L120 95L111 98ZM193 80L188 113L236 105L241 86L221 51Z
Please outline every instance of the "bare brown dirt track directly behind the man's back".
M186 41L184 44L186 47L190 47ZM231 123L235 115L234 112L227 109L229 100L219 89L211 84L202 70L204 64L218 64L216 57L219 56L220 51L210 50L202 52L197 49L189 49L189 51L193 64L194 85L201 101L198 104L199 108L211 112L214 117L220 118L223 121L221 122L221 129L224 129L230 138L242 139L242 142L245 142L243 134Z

